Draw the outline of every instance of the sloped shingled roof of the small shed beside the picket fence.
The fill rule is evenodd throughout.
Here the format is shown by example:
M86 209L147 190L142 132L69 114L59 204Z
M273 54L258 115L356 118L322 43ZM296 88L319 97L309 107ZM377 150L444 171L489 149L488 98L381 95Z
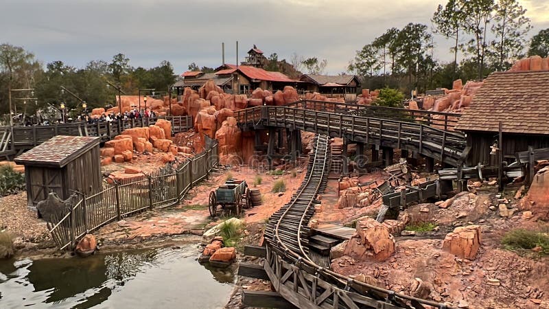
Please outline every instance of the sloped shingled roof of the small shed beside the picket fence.
M56 135L16 157L14 161L17 164L62 168L99 145L100 141L100 137Z

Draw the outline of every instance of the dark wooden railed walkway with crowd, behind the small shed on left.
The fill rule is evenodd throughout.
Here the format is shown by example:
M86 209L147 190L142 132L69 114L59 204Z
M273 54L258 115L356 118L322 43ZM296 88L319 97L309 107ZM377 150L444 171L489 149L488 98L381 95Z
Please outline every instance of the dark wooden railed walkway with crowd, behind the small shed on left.
M193 127L191 116L167 116L160 119L172 122L174 133L185 132ZM95 136L101 137L102 141L108 141L120 135L128 128L150 126L155 123L156 119L140 118L113 122L97 122L94 124L73 122L51 126L1 126L0 158L9 159L19 155L23 151L42 144L56 135Z

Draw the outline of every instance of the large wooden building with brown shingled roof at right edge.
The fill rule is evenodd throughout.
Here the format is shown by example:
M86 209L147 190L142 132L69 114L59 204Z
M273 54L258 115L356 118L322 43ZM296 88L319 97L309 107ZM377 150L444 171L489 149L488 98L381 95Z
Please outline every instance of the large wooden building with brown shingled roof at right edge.
M456 130L467 134L467 165L498 165L491 146L499 143L503 161L515 153L549 147L549 71L495 72L484 80Z

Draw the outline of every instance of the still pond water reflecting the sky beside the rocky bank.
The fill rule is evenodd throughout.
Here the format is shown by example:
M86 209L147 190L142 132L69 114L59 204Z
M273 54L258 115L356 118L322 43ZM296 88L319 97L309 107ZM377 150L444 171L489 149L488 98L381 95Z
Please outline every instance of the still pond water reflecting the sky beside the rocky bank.
M222 308L233 268L208 269L194 246L89 258L0 261L0 308Z

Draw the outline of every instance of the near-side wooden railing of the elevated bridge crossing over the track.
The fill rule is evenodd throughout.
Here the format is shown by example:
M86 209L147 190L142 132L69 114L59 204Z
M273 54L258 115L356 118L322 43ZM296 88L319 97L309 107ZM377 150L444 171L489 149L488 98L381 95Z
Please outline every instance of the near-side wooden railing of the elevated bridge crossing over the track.
M237 111L242 128L277 126L344 137L349 141L406 149L458 166L465 135L414 122L315 111L314 108L256 106Z

